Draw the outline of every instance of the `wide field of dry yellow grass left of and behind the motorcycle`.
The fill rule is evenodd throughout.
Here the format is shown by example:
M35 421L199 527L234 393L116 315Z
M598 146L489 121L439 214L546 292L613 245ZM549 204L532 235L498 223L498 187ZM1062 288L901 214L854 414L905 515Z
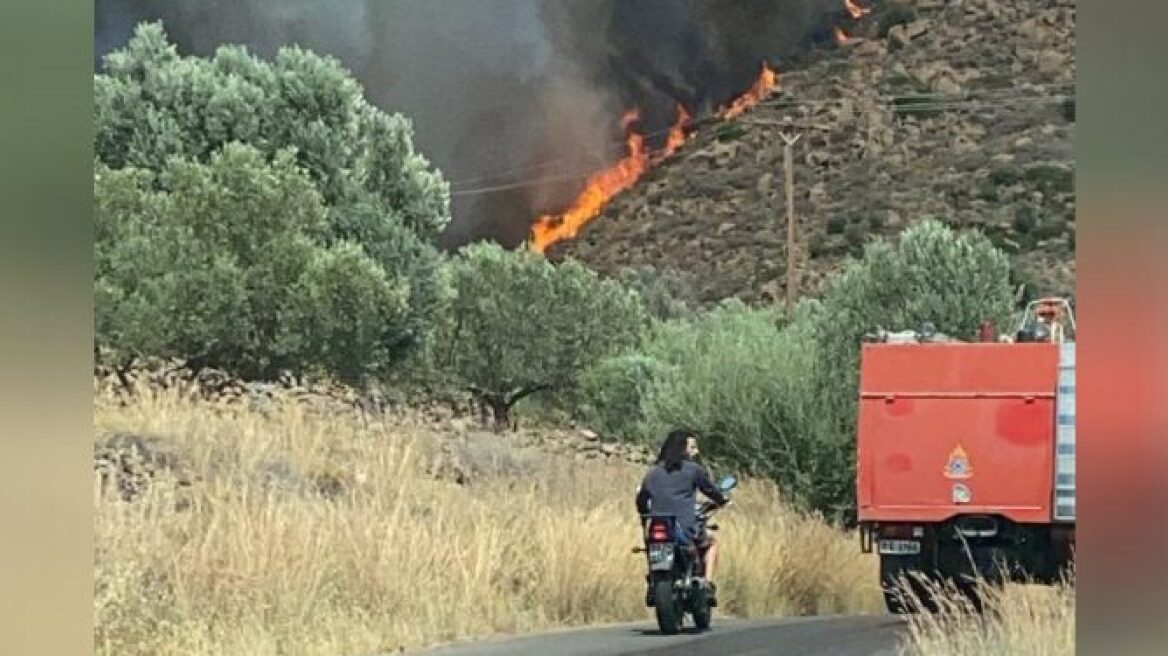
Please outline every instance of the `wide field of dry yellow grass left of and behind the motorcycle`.
M542 455L458 486L427 474L443 435L405 419L98 395L95 421L159 438L196 479L128 503L96 487L98 654L359 655L651 616L638 467ZM719 523L723 613L880 609L854 536L771 487L744 483Z

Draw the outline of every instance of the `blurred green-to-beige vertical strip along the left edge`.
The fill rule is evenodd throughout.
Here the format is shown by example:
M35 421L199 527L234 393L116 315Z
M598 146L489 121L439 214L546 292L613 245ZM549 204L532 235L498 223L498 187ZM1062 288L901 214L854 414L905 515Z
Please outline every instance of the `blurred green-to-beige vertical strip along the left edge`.
M93 643L93 5L0 8L0 635Z

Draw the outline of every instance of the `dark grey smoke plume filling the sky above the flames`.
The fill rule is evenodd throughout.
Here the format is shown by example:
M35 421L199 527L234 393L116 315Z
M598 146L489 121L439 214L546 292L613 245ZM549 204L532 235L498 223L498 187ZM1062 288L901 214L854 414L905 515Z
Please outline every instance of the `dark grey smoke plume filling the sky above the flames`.
M453 184L444 242L520 243L623 154L619 117L668 127L801 48L839 0L96 0L95 55L161 20L183 53L298 43L335 56L370 102L409 116ZM503 187L503 189L496 189ZM492 189L481 191L482 189Z

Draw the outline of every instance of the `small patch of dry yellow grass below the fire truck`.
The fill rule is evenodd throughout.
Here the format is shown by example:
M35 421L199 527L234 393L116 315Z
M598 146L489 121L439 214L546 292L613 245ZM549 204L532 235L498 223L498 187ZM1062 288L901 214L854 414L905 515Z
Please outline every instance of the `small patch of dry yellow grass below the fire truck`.
M1072 656L1075 585L1009 584L982 587L985 612L971 613L960 595L941 594L936 614L910 619L910 656Z

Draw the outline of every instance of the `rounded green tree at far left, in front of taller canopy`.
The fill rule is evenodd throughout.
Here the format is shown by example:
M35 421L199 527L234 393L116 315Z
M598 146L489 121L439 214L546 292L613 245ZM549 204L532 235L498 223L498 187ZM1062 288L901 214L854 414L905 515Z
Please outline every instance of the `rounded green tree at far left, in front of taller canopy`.
M95 327L123 355L355 381L405 350L408 274L326 238L324 202L291 154L229 145L157 175L98 163L95 201Z

